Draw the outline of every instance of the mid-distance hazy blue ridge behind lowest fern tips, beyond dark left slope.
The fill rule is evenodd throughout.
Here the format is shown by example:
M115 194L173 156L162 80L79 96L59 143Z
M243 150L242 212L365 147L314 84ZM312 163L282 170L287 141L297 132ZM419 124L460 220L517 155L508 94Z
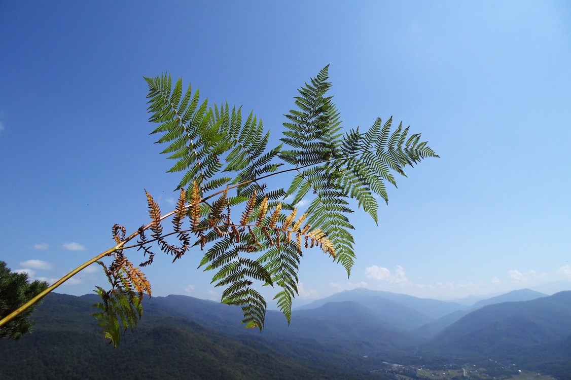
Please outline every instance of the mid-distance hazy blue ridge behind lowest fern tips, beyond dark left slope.
M280 312L268 310L261 336L244 329L241 310L216 302L185 296L154 297L146 300L146 312L189 318L210 329L254 339L304 341L325 346L343 341L357 350L389 350L425 342L415 334L385 324L376 314L356 302L330 302L317 309L294 312L287 324Z

